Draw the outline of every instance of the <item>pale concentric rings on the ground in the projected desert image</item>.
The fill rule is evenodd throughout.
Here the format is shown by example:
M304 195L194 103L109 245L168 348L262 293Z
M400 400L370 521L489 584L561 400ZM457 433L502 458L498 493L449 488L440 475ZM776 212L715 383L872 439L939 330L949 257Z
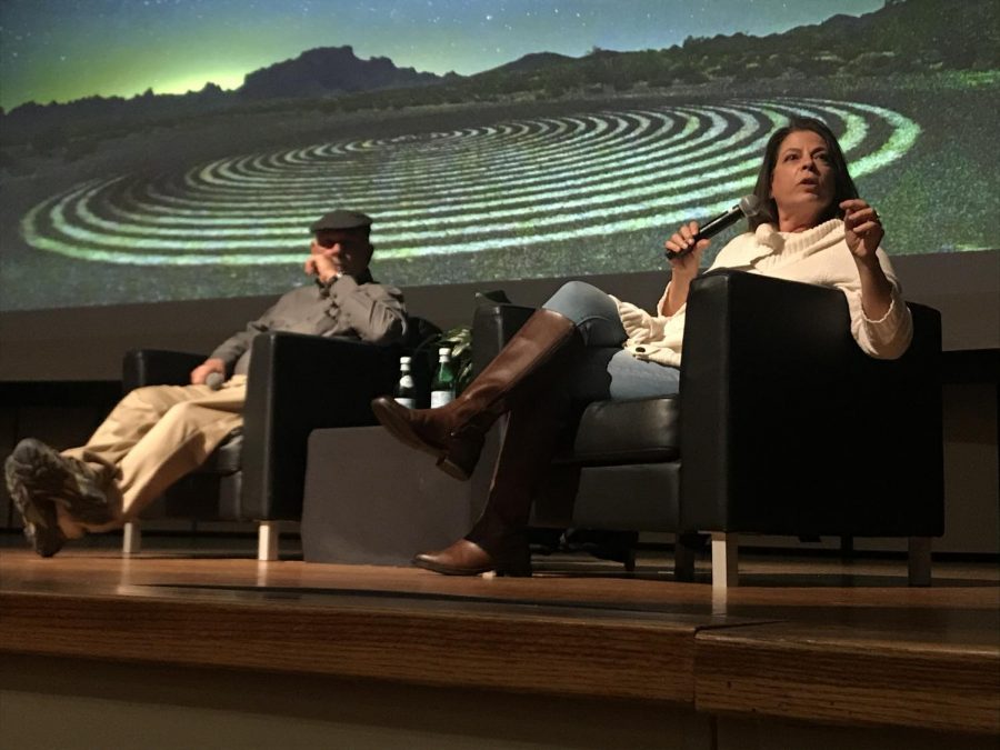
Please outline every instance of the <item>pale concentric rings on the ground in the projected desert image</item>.
M293 263L309 223L344 206L378 218L382 259L541 250L728 209L796 113L834 129L856 178L920 133L892 110L820 99L591 111L93 180L32 208L21 230L39 250L110 263Z

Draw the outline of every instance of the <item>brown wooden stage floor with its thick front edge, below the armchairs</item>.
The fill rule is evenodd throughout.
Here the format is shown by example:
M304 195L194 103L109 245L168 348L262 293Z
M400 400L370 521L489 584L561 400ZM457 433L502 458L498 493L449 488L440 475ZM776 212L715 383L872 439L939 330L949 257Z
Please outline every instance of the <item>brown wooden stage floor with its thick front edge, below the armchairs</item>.
M743 586L713 600L654 560L636 574L564 557L532 579L454 579L3 550L0 653L1000 733L994 564L937 563L933 587L910 589L901 562L744 563Z

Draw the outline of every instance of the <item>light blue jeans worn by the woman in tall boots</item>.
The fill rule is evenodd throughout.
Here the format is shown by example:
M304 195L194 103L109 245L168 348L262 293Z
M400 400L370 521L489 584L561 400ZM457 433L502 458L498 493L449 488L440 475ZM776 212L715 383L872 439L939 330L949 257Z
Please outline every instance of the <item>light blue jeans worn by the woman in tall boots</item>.
M570 281L543 306L577 324L586 351L570 374L570 396L577 401L640 399L672 396L680 370L636 359L621 348L628 338L614 301L597 287Z

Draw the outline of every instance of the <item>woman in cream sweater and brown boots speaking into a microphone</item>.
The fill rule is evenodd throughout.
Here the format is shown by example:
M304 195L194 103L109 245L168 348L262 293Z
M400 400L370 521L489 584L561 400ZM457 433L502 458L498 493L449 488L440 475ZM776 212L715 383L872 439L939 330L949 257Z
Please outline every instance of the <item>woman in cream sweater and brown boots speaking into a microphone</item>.
M912 334L910 312L879 249L879 216L858 197L830 129L801 118L774 132L754 194L762 210L751 231L727 244L712 268L841 289L861 349L878 358L901 356ZM372 403L393 436L437 456L438 466L460 479L476 468L487 430L510 412L482 517L464 539L418 554L414 564L449 574L530 574L524 529L531 492L569 421L570 403L678 391L684 306L709 247L708 240L693 242L697 232L690 222L666 242L679 254L670 260L658 314L570 282L450 404L408 410L388 398Z

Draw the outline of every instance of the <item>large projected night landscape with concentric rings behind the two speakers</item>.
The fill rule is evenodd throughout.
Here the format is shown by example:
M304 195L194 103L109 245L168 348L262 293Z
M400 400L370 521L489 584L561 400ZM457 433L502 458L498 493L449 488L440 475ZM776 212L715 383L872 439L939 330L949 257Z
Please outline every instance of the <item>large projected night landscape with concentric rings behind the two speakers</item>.
M892 254L996 247L998 11L944 6L6 0L0 309L274 293L331 206L401 287L662 269L796 114Z

